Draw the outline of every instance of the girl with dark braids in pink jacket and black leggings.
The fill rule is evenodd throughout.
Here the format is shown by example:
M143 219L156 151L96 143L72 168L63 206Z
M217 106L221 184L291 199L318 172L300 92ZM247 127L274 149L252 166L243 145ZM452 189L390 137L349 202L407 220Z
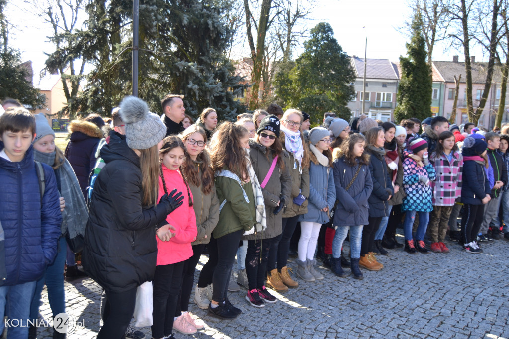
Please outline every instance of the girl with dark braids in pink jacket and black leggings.
M185 146L175 135L163 139L159 158L161 162L158 199L173 189L187 192L182 206L168 214L165 224L170 225L173 236L168 241L157 239L157 266L153 281L152 336L172 334L177 302L182 287L184 261L192 254L191 242L196 240L196 215L193 210L189 185L180 172L185 158Z

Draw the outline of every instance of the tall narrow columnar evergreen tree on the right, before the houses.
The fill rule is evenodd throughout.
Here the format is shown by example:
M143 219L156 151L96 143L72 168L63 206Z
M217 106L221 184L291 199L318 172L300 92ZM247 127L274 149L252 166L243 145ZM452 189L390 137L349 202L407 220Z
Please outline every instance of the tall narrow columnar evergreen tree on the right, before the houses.
M433 93L431 67L427 63L426 42L422 36L422 21L417 13L412 21L412 38L407 46L407 57L400 56L401 81L394 120L431 117Z

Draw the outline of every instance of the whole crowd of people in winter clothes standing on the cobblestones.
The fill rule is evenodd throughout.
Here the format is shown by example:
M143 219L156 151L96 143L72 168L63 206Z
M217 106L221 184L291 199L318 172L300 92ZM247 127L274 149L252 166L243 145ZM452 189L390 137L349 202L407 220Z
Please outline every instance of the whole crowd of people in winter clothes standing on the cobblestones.
M242 310L229 292L244 287L249 305L265 307L277 302L268 288L324 279L317 259L363 279L361 268L384 268L376 256L387 249L447 253L447 233L467 253L509 240L509 125L347 122L327 112L310 128L305 112L277 104L218 124L213 108L194 122L183 99L165 96L159 117L126 97L109 121L72 121L64 151L43 114L4 101L0 315L32 325L2 322L0 332L37 337L44 285L53 317L65 312L64 267L66 280L90 276L104 289L98 338L145 337L130 326L144 284L152 337L171 338L204 328L189 313L193 289L198 307L232 320Z

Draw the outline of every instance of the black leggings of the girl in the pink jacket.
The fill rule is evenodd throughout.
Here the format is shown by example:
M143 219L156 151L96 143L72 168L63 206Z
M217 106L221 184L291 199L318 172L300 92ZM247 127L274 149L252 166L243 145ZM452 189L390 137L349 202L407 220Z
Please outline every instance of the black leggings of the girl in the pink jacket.
M172 334L175 308L182 287L184 262L158 265L154 274L152 300L152 336L162 338Z

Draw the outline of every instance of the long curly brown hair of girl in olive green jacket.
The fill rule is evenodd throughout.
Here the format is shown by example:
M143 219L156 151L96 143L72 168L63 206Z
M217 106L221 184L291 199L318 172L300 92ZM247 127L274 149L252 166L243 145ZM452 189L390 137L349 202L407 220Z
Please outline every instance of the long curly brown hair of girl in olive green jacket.
M247 158L240 139L248 135L245 127L229 121L223 122L216 128L210 143L212 171L221 171L227 167L241 180L247 181Z

